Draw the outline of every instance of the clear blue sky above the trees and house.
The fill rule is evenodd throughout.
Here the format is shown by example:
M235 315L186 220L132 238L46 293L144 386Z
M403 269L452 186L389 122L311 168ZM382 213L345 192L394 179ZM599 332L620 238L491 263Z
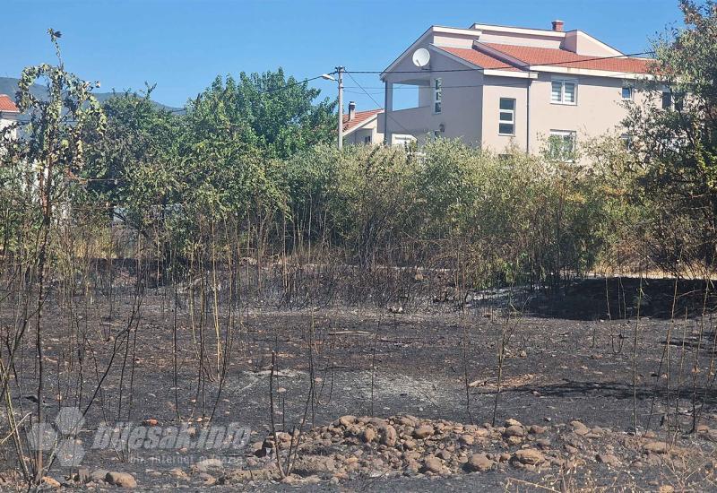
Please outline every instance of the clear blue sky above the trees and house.
M51 62L46 30L63 33L69 70L101 91L141 90L182 106L217 74L282 66L298 79L333 71L381 70L431 24L472 22L548 29L559 18L625 53L679 22L677 0L9 0L3 8L0 75ZM356 75L383 104L377 75ZM313 82L335 97L335 83ZM345 100L376 103L347 80Z

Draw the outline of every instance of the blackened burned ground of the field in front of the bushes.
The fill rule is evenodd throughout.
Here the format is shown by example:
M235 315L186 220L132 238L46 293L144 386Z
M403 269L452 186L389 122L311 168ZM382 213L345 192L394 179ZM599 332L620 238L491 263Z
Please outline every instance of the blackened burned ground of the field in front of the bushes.
M660 285L669 299L672 283ZM277 310L257 304L234 314L231 345L223 344L223 377L217 372L213 322L193 331L189 308L175 313L171 297L159 290L145 293L134 317L131 296L114 300L111 317L104 300L83 301L73 307L72 318L78 321L74 331L67 330L67 307L50 304L48 320L56 324L52 333L48 328L46 364L55 366L59 377L47 383L48 396L56 399L46 402L46 412L54 415L60 404L84 409L101 380L78 435L83 444L91 443L103 422L189 423L200 430L208 423L236 422L251 428L249 445L216 454L220 467L208 470L197 470L195 464L213 456L212 451L140 448L127 454L105 449L83 458L82 468L88 471L131 473L140 489L474 490L507 485L523 490L531 485L561 489L567 483L572 489L714 489L712 318L702 316L697 303L687 316L683 308L675 320L654 305L639 321L631 314L617 318L617 308L610 319L601 298L604 287L604 280L588 281L569 290L567 298L550 299L542 309L531 293L514 303L521 307L516 310L501 301L505 293L500 292L471 295L462 311L451 303L390 311ZM650 296L654 300L661 294ZM632 302L631 293L625 297ZM566 313L557 313L559 303L566 304ZM222 337L225 333L220 326ZM506 333L511 335L496 405L497 355ZM85 341L82 355L67 354L69 337ZM29 347L16 362L13 382L14 402L22 406L19 415L33 405L34 365ZM314 431L300 438L298 460L332 456L333 470L307 466L283 482L275 469L265 472L275 468L270 378L276 429L291 432L306 419L303 429ZM695 412L698 419L693 419ZM341 426L337 419L342 416L358 419ZM406 416L415 425L398 430L398 445L380 443L381 430L399 427ZM520 440L505 435L511 419L524 428ZM576 434L573 421L583 423L591 436ZM694 430L694 424L700 428ZM545 429L532 434L531 425ZM412 438L420 426L432 427L436 437ZM365 439L367 428L376 430L375 440ZM454 428L460 432L449 431ZM479 439L467 445L461 441L466 433ZM406 445L406 440L415 444ZM670 450L682 452L645 449L652 442L669 443L674 447ZM551 458L521 463L515 454L522 449L540 450ZM410 451L416 454L407 455ZM4 453L5 476L11 479L17 459L9 447ZM445 469L433 471L426 461L438 453L436 460ZM346 462L352 454L361 457L357 466ZM490 467L466 472L472 454L486 454ZM609 463L607 455L616 461ZM371 462L379 456L384 457L380 464ZM67 479L73 471L77 468L56 465L51 475L67 488L79 488L84 480ZM264 472L247 477L246 471ZM99 488L105 483L89 484Z

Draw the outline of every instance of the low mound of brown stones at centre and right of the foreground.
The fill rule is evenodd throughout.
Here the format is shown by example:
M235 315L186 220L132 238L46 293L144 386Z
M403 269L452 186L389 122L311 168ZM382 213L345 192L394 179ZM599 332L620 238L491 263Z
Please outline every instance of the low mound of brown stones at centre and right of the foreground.
M700 428L697 440L717 442L717 429ZM528 477L537 485L565 478L571 471L599 468L629 469L635 477L649 478L635 479L635 486L672 491L704 485L715 477L717 456L712 443L704 443L702 450L674 445L669 438L651 432L635 437L610 428L589 428L577 420L523 425L507 419L503 426L493 427L411 415L388 419L342 416L303 436L280 433L255 442L256 458L246 461L248 467L228 471L218 482L281 480L301 484L328 480L340 484L360 477L432 478L518 470L530 472ZM279 449L280 463L286 467L297 444L295 455L291 455L295 457L291 473L282 475L275 451ZM660 484L658 471L666 464L674 468L675 478L664 478ZM693 472L691 478L688 472ZM680 482L680 478L684 480Z

